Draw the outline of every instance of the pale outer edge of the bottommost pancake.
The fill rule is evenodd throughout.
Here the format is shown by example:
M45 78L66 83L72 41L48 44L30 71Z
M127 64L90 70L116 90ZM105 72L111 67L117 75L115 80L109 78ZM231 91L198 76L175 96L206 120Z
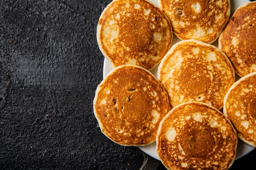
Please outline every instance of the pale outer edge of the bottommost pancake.
M216 110L217 112L219 112L220 114L222 114L222 113L220 112L220 110L216 109L215 107L213 107L213 106L211 106L211 105L209 105L209 104L202 103L202 102L185 102L185 103L179 104L178 106L175 106L172 110L175 110L176 108L178 108L178 107L180 107L180 106L182 106L182 105L191 104L191 103L200 103L200 104L202 104L202 105L204 105L204 106L207 106L207 107L209 107L209 108L212 108L212 109ZM158 128L158 130L157 130L157 139L156 139L156 145L157 145L157 147L156 147L156 152L157 152L157 148L158 148L158 136L159 136L159 134L161 133L161 129L162 129L162 126L163 126L163 122L166 121L166 119L168 119L168 115L171 114L172 110L170 110L170 112L167 113L167 115L162 119L162 121L161 121L160 124L159 124L159 128ZM224 117L225 117L225 119L229 122L229 124L231 125L232 129L233 129L234 132L236 133L236 129L234 128L233 124L231 124L231 121L230 121L225 115L224 115ZM232 166L232 164L233 164L234 161L235 161L236 151L237 151L237 145L238 145L238 139L236 139L236 146L234 147L234 151L235 151L235 152L234 152L234 153L235 153L235 154L234 154L234 159L233 159L233 161L230 163L228 169ZM157 153L157 154L158 154L158 153ZM167 168L167 167L166 167L166 168Z

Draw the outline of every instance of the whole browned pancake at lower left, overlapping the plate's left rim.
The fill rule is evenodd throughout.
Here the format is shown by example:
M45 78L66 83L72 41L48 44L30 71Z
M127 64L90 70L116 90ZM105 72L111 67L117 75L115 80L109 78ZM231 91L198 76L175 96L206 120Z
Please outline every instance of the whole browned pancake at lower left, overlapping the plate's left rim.
M94 115L101 132L123 146L155 141L159 123L169 111L164 87L139 66L116 67L95 92Z

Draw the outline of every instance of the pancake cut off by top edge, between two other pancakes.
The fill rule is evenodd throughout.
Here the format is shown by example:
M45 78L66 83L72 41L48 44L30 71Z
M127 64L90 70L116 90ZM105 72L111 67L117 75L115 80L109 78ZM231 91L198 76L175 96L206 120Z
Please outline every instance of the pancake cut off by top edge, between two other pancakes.
M158 0L181 40L213 43L230 16L230 0Z

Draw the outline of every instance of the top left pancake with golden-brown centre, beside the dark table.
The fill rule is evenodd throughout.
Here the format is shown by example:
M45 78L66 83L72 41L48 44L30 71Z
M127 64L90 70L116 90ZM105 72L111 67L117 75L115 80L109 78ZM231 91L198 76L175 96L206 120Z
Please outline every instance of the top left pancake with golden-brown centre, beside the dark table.
M171 47L171 23L147 0L113 0L101 13L97 42L112 67L134 64L148 70Z

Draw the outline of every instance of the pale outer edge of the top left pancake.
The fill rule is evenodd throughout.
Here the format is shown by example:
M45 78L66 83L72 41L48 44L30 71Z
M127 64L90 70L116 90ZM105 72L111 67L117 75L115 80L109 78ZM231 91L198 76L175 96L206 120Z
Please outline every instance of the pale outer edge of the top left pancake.
M119 0L112 0L112 2L115 2L115 1L119 1ZM150 2L150 0L145 0L145 1L148 2L148 3L150 3L150 4L152 4L154 7L156 7L156 8L159 9L159 7L157 7L155 4L153 4L152 2ZM109 6L112 4L112 2L110 2L110 3L104 8L104 10L102 11L102 13L101 13L99 19L103 17L104 13L108 10L108 8L109 8ZM162 11L161 9L159 9L159 10ZM167 15L166 15L164 12L163 12L163 14L165 15L167 21L170 22L170 20L168 19ZM100 20L99 20L99 21L100 21ZM112 68L115 68L116 66L114 66L114 64L111 62L110 58L108 57L108 55L105 53L105 51L104 51L103 48L102 48L102 44L101 44L101 40L100 40L102 25L99 24L99 21L98 21L98 24L97 24L97 31L96 31L96 38L97 38L97 43L98 43L99 49L100 49L101 53L103 54L103 56L104 56L106 59L108 59L108 60L110 61L111 67L112 67ZM170 25L171 25L171 23L170 23ZM172 30L172 29L171 29L171 35L172 35L171 37L173 38L173 30ZM161 62L161 60L160 60L159 62ZM156 63L155 66L156 66L157 64L158 64L158 63Z

